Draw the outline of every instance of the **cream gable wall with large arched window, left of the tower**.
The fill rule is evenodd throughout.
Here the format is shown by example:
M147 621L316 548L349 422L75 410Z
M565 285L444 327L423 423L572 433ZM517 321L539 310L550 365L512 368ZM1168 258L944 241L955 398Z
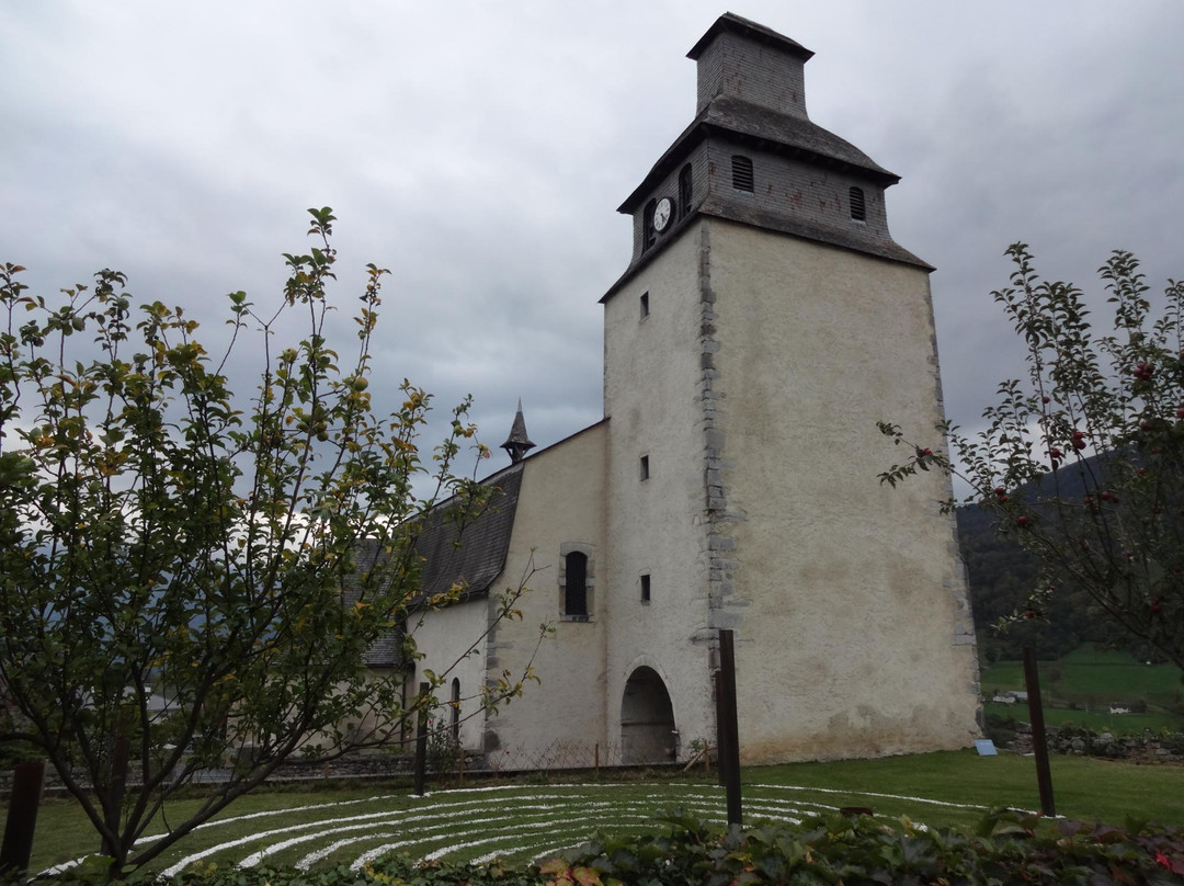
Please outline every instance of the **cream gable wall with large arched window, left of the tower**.
M517 608L522 618L501 623L491 637L497 670L521 674L534 655L541 683L489 718L490 760L519 766L591 765L596 745L606 750L604 705L609 548L604 526L607 424L593 425L523 462L506 570L494 590L516 586L530 569L532 589ZM588 557L588 619L565 621L560 576L568 550ZM540 624L554 633L538 643ZM516 676L515 676L516 679ZM493 738L496 736L496 738ZM587 763L577 760L586 752Z

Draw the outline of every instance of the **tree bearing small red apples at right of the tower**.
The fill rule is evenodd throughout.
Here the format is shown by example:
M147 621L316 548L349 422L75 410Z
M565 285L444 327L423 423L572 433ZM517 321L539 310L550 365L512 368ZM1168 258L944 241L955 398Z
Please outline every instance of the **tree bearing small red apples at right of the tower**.
M1184 668L1184 283L1153 307L1138 261L1115 251L1099 269L1113 322L1096 330L1077 287L1042 280L1025 244L1008 255L1011 285L992 295L1027 346L1024 378L998 386L978 434L940 426L948 450L881 422L909 451L881 482L952 471L1032 554L1038 578L1005 623L1085 592Z

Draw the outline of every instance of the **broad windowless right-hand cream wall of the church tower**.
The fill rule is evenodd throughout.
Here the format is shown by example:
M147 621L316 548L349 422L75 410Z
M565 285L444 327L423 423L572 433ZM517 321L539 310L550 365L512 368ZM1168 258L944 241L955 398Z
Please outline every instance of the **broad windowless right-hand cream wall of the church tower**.
M928 275L710 225L744 756L966 746L978 670L948 481L877 480L900 457L877 419L940 419Z

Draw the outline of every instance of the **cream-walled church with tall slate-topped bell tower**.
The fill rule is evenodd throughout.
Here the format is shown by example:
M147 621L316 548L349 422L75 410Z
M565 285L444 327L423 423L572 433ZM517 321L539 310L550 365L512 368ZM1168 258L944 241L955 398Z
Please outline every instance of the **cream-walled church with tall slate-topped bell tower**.
M810 121L811 54L733 14L690 49L695 114L619 208L633 246L601 298L604 418L536 450L520 409L490 508L458 550L422 539L425 590L465 595L414 629L408 691L493 624L445 683L491 765L714 746L720 629L745 763L980 734L948 479L879 482L897 454L876 420L942 418L933 269L888 231L899 176ZM523 576L522 619L496 621ZM532 656L541 683L480 711Z

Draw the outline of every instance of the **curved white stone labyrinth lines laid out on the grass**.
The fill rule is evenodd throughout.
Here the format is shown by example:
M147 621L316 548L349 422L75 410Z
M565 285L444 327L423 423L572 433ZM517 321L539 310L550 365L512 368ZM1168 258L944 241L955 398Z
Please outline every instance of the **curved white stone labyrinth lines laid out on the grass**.
M797 822L837 808L806 802L803 791L839 794L817 788L746 785L746 822ZM850 791L842 795L845 802L856 796ZM984 808L884 794L858 796ZM654 830L654 817L676 808L715 826L727 820L723 790L704 784L498 785L438 791L423 797L388 794L210 822L199 830L225 839L178 858L162 873L172 877L194 862L213 860L220 866L268 863L308 869L322 863L347 863L358 869L392 852L423 860L483 862L502 858L521 862L578 846L597 832ZM289 820L300 816L302 821L268 827L268 821L278 816ZM179 848L185 848L184 842Z

